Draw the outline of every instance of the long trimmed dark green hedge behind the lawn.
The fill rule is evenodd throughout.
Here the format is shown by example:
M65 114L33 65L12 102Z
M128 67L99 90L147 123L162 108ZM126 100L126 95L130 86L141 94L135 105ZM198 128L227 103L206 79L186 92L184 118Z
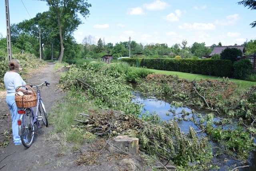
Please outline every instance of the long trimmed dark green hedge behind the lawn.
M218 77L232 77L234 70L230 60L124 58L122 61L128 62L131 66L136 66L138 61L140 67Z

